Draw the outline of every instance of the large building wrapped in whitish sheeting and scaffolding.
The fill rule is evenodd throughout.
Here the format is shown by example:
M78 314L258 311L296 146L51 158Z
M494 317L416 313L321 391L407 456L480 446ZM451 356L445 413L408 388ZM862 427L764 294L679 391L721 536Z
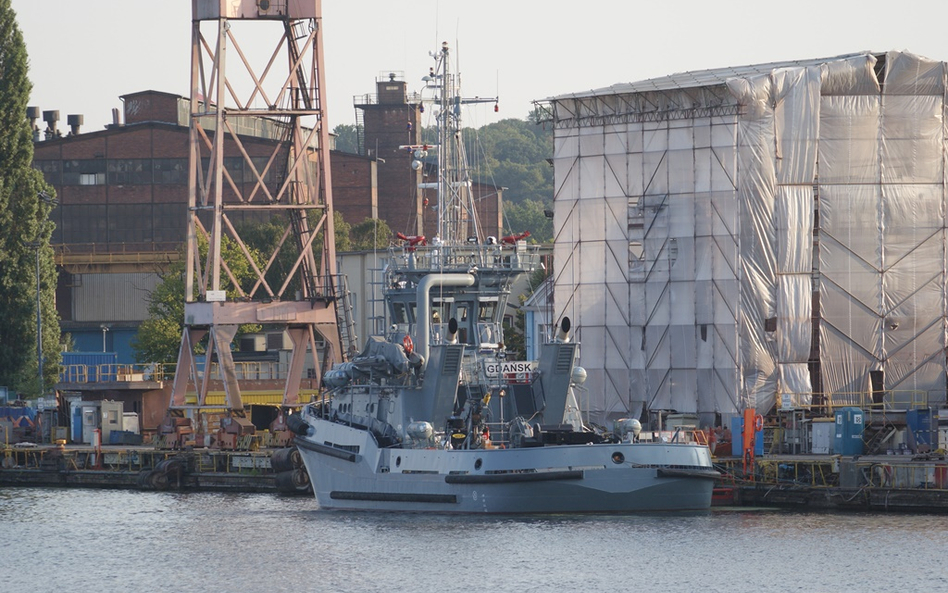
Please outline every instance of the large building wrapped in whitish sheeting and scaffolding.
M944 403L945 81L863 52L548 100L592 416Z

